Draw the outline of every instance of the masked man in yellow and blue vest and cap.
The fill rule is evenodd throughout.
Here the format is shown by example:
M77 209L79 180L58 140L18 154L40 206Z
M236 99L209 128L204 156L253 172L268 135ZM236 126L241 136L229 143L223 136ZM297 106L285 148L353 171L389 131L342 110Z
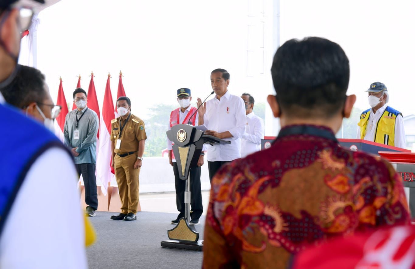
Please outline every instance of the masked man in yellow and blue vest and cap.
M377 143L405 148L403 116L398 110L389 107L389 93L385 84L374 82L366 90L369 93L371 109L360 115L357 138Z

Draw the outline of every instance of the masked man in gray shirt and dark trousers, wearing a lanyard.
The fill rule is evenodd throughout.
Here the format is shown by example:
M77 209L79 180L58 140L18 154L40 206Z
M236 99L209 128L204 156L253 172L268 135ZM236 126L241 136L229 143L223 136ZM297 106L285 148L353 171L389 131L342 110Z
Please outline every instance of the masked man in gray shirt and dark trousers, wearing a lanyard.
M73 91L73 102L76 109L70 111L65 118L63 135L65 145L75 158L76 170L82 174L85 184L86 213L93 217L98 209L97 179L95 163L97 160L98 116L86 106L86 92L82 88Z

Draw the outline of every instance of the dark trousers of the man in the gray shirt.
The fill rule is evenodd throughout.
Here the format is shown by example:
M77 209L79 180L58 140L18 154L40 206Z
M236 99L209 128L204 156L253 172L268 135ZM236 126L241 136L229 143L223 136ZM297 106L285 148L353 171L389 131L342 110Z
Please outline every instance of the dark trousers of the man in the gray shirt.
M82 174L83 184L85 185L85 204L98 209L97 179L95 177L95 163L76 164L78 174Z

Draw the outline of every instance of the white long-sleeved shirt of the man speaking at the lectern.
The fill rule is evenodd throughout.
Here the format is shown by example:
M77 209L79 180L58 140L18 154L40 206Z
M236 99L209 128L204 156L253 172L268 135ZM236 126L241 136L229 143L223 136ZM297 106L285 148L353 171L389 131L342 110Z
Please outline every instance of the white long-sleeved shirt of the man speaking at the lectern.
M247 125L244 100L229 91L220 100L215 98L206 102L206 113L203 116L204 125L208 130L218 133L229 131L233 137L224 140L230 144L207 145L207 160L232 161L241 158L241 137Z

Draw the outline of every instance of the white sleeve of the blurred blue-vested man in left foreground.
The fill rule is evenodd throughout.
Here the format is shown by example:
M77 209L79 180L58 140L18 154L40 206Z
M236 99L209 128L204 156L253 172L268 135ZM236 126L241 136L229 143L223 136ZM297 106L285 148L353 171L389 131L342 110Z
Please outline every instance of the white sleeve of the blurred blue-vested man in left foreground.
M33 163L0 238L0 268L88 268L77 173L68 153Z

